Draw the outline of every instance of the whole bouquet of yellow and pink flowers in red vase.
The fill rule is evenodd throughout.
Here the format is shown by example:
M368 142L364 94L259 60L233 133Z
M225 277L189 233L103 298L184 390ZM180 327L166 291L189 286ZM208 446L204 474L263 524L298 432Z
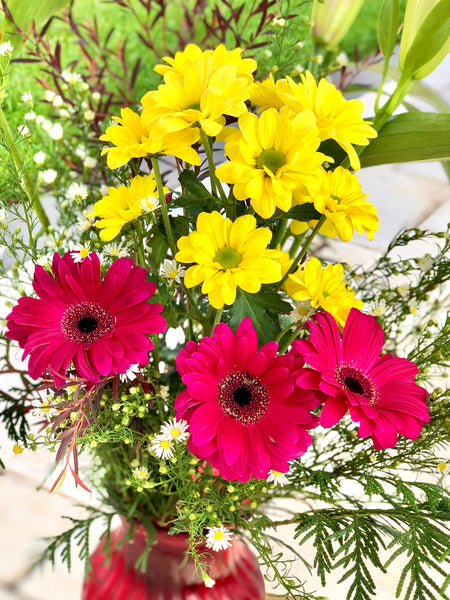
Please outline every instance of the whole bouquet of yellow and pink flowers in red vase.
M166 56L141 106L105 119L85 179L64 201L55 193L59 229L1 111L22 190L2 229L11 254L22 251L3 359L20 385L2 394L2 415L19 449L56 452L52 490L70 474L102 498L47 551L53 560L105 522L90 562L82 538L84 598L263 598L242 539L283 598L318 597L291 569L307 565L308 540L308 566L323 585L341 568L347 598L372 597L371 569L403 554L398 594L446 597L450 497L438 478L408 473L446 468L449 392L434 378L449 364L450 323L434 312L442 319L448 232L403 232L371 269L322 258L327 240L372 240L380 226L361 167L448 158L448 115L393 116L448 43L448 2L427 8L420 26L416 4L407 3L401 76L385 101L399 17L398 3L382 4L384 74L370 121L361 100L321 75L322 61L257 80L240 48L190 43ZM313 10L317 25L320 3ZM1 48L7 73L12 46ZM78 85L67 73L58 81ZM56 185L56 171L52 181L41 173L38 185ZM19 220L27 241L8 229ZM434 257L396 259L425 238L440 244ZM18 284L27 278L32 288ZM274 549L273 528L289 524L293 539L281 546L294 558Z

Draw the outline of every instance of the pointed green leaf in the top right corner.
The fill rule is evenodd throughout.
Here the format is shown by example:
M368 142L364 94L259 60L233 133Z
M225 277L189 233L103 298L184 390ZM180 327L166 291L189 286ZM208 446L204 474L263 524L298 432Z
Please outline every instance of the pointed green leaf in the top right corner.
M450 37L450 0L440 0L419 27L405 56L405 79L414 77L448 43ZM422 76L424 76L423 74Z

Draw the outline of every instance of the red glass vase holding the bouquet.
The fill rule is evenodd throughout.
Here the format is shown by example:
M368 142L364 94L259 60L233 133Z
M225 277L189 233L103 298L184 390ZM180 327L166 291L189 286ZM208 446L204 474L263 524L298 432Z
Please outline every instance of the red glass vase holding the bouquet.
M110 552L102 540L90 557L91 570L83 587L83 600L264 600L264 581L258 563L244 542L235 537L226 550L201 548L208 573L215 580L207 588L186 556L187 537L157 530L145 572L135 570L147 532L136 526L132 538L120 544L128 532L122 525L111 532Z

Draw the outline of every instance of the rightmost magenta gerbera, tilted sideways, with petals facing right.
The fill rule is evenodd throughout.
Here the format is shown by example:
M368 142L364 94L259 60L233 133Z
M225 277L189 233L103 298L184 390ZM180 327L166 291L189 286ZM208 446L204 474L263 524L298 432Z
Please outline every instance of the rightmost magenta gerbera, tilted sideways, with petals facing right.
M384 333L375 317L352 308L342 336L329 313L314 319L308 321L309 341L294 342L292 352L315 369L304 369L297 385L328 396L320 424L332 427L349 411L360 423L358 435L372 436L376 450L395 446L398 433L416 439L429 421L427 392L414 381L417 366L380 356Z

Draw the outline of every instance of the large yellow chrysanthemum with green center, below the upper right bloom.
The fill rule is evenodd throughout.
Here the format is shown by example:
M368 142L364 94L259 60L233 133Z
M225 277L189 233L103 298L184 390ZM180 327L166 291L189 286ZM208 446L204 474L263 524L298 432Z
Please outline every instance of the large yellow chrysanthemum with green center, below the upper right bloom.
M250 198L263 219L276 208L287 212L296 188L316 186L315 177L327 158L317 152L320 140L313 113L295 115L288 108L271 108L259 117L246 113L238 123L239 130L226 138L230 161L217 167L217 177L234 184L238 200Z

